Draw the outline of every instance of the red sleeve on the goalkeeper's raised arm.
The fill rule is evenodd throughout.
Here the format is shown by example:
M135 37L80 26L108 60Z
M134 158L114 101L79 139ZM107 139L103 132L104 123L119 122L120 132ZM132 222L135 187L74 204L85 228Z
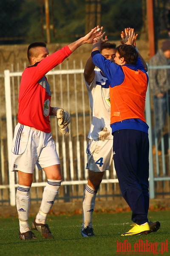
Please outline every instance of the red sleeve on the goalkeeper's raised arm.
M48 57L44 58L38 64L38 71L42 76L45 76L48 71L52 70L57 65L61 64L62 61L65 60L69 55L71 55L71 50L68 46L59 49L58 51L54 52L53 54L49 55Z

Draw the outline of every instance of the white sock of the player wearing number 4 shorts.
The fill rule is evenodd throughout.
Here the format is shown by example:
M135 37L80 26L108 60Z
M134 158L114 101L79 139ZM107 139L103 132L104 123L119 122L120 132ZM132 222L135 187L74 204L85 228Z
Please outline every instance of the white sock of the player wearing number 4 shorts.
M82 215L82 229L85 227L92 227L92 215L94 212L95 199L97 190L87 184L83 195L83 215Z

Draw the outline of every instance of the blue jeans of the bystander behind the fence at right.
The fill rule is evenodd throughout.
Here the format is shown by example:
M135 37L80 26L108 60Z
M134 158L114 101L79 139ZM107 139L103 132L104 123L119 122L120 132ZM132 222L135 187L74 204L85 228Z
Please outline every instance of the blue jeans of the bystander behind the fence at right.
M152 142L155 145L155 139L157 138L160 143L164 125L166 122L167 113L170 115L170 91L165 93L163 97L153 97L155 125L152 131Z

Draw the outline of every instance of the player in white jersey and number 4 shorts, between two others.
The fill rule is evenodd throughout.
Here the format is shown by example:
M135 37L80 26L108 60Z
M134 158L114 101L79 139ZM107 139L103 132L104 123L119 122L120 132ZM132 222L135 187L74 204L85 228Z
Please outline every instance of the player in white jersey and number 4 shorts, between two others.
M114 61L116 44L106 43L102 39L101 54ZM92 111L91 128L87 146L88 183L83 195L82 236L95 236L92 225L96 194L105 170L110 168L113 160L113 135L111 134L111 105L108 79L102 71L95 71L91 57L85 65L84 77L88 89Z

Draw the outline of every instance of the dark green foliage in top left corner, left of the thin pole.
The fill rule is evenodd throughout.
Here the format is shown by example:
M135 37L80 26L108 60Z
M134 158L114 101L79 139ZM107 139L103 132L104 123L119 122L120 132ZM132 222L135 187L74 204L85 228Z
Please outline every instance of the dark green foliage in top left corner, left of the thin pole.
M0 0L0 37L1 44L22 43L23 38L40 33L40 4L35 0Z

